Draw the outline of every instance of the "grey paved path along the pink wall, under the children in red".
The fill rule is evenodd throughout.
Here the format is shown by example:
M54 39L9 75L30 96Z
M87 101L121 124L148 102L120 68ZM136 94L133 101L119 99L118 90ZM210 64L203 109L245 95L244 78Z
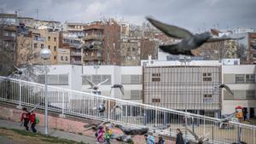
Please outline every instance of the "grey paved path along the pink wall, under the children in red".
M15 130L25 130L24 127L20 126L20 123L15 123L15 122L3 120L3 119L0 119L0 127L7 128L7 129L15 129ZM36 128L37 128L38 132L44 134L43 127L36 127ZM84 143L90 143L90 144L96 143L95 137L90 137L90 136L85 136L85 135L77 135L77 134L73 134L73 133L69 133L69 132L65 132L65 131L61 131L61 130L53 130L53 129L49 129L48 133L51 136L60 137L63 139L79 141L79 142L83 141ZM2 139L2 137L0 137L0 139ZM6 141L7 143L12 143L12 141L9 140L8 138L6 138L6 140L4 140L4 141ZM118 144L118 142L111 142L111 143Z

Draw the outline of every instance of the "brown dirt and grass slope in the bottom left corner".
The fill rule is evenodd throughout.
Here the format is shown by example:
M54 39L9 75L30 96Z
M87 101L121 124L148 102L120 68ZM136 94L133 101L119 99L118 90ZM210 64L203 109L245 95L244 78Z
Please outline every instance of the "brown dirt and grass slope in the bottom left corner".
M33 134L24 130L7 130L0 128L0 143L4 144L84 144L83 142L60 139L53 136Z

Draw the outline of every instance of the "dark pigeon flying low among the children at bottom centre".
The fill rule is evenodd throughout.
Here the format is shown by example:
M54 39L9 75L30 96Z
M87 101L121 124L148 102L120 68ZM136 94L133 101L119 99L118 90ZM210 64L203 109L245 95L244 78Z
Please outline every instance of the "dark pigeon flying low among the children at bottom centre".
M114 126L122 130L125 135L144 135L148 133L148 128L124 127L121 124L115 124Z

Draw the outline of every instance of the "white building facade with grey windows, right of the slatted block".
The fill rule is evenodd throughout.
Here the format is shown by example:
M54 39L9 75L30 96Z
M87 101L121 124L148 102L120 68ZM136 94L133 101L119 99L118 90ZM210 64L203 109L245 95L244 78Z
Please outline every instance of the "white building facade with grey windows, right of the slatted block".
M235 112L235 107L241 106L247 109L248 118L255 118L255 75L255 65L223 66L223 83L227 84L234 93L234 95L230 95L230 93L223 89L223 114L230 114L232 112Z

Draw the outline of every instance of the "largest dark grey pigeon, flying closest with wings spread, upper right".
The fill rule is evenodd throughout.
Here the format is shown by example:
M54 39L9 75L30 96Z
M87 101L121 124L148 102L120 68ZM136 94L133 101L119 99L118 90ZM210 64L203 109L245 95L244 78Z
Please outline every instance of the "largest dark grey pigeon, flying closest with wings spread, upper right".
M160 49L164 52L172 55L192 55L191 50L199 48L203 43L207 42L218 42L224 40L235 39L239 40L244 37L232 38L232 37L212 37L210 32L203 32L201 34L192 34L188 30L183 28L167 25L158 20L147 17L147 20L159 29L161 32L164 32L169 37L175 37L182 39L178 43L173 43L171 45L160 45Z

